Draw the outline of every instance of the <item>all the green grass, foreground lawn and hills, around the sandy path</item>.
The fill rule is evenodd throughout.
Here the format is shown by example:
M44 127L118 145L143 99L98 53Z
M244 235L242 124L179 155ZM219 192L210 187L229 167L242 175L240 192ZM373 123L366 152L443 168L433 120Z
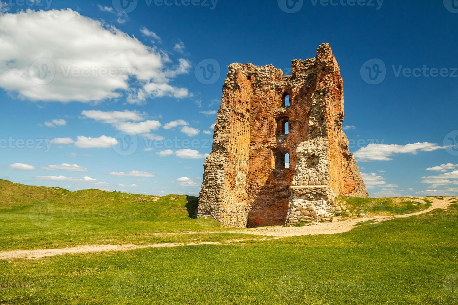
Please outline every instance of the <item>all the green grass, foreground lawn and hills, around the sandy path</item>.
M0 251L256 237L192 219L196 198L156 199L0 181ZM352 214L429 204L341 200ZM0 260L0 303L458 304L457 220L454 201L335 235Z

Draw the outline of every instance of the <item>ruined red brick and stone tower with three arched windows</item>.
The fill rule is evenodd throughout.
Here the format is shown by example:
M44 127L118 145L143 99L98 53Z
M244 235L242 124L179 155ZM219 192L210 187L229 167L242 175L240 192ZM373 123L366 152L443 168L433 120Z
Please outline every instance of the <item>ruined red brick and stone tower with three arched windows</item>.
M198 217L235 227L319 221L332 218L338 195L369 197L342 131L344 85L329 44L291 71L229 65Z

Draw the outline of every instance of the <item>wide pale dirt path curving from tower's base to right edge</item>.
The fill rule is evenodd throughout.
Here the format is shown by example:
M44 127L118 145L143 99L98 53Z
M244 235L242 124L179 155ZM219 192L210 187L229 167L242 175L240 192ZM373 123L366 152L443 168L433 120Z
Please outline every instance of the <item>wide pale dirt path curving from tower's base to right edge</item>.
M239 234L254 234L254 235L266 235L266 236L277 236L277 237L289 237L289 236L302 236L302 235L319 235L319 234L338 234L343 232L348 232L349 230L356 227L356 224L359 222L364 222L368 220L375 221L374 224L396 218L405 218L420 214L425 214L431 212L434 209L447 209L447 207L452 204L450 199L454 197L444 197L443 200L438 200L437 198L428 198L432 201L431 207L420 212L404 215L393 215L393 216L372 216L372 217L358 217L350 218L342 221L337 221L334 219L333 222L321 223L318 225L309 225L304 227L261 227L253 228L246 230L237 230L230 233L239 233ZM456 198L454 198L456 199Z

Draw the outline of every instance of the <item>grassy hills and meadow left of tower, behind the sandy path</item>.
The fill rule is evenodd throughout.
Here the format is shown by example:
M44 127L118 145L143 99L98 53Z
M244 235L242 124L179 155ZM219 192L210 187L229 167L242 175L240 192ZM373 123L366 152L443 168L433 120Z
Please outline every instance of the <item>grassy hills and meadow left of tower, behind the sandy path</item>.
M186 195L70 192L1 180L0 198L0 250L172 242L194 235L160 233L224 230L213 219L194 219L197 198Z

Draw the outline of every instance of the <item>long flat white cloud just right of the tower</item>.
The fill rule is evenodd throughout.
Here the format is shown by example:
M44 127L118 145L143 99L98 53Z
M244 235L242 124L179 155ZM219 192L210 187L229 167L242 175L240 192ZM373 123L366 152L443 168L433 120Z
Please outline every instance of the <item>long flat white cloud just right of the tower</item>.
M354 156L358 161L388 161L393 160L390 156L396 154L415 155L419 151L433 151L444 148L446 147L428 142L406 145L371 143L356 151Z

